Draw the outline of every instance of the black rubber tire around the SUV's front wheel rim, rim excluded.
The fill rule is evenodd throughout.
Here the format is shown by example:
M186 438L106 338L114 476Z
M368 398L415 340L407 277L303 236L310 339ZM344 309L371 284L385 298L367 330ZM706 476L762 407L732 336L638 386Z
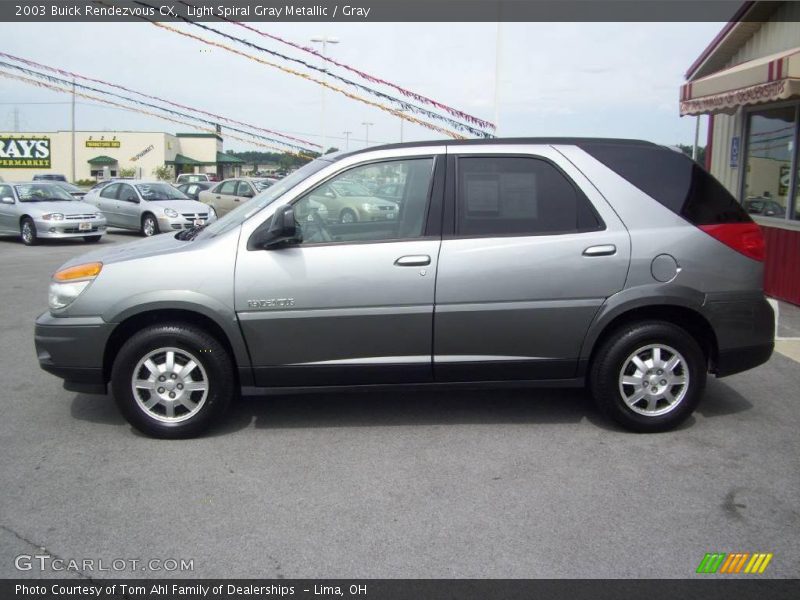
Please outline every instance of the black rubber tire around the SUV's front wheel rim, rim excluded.
M200 411L186 421L163 423L148 416L131 390L133 370L145 354L163 347L182 348L202 364L209 392ZM185 324L154 325L133 335L120 349L111 374L111 390L120 411L136 429L159 438L197 436L215 424L236 393L233 362L214 337Z

